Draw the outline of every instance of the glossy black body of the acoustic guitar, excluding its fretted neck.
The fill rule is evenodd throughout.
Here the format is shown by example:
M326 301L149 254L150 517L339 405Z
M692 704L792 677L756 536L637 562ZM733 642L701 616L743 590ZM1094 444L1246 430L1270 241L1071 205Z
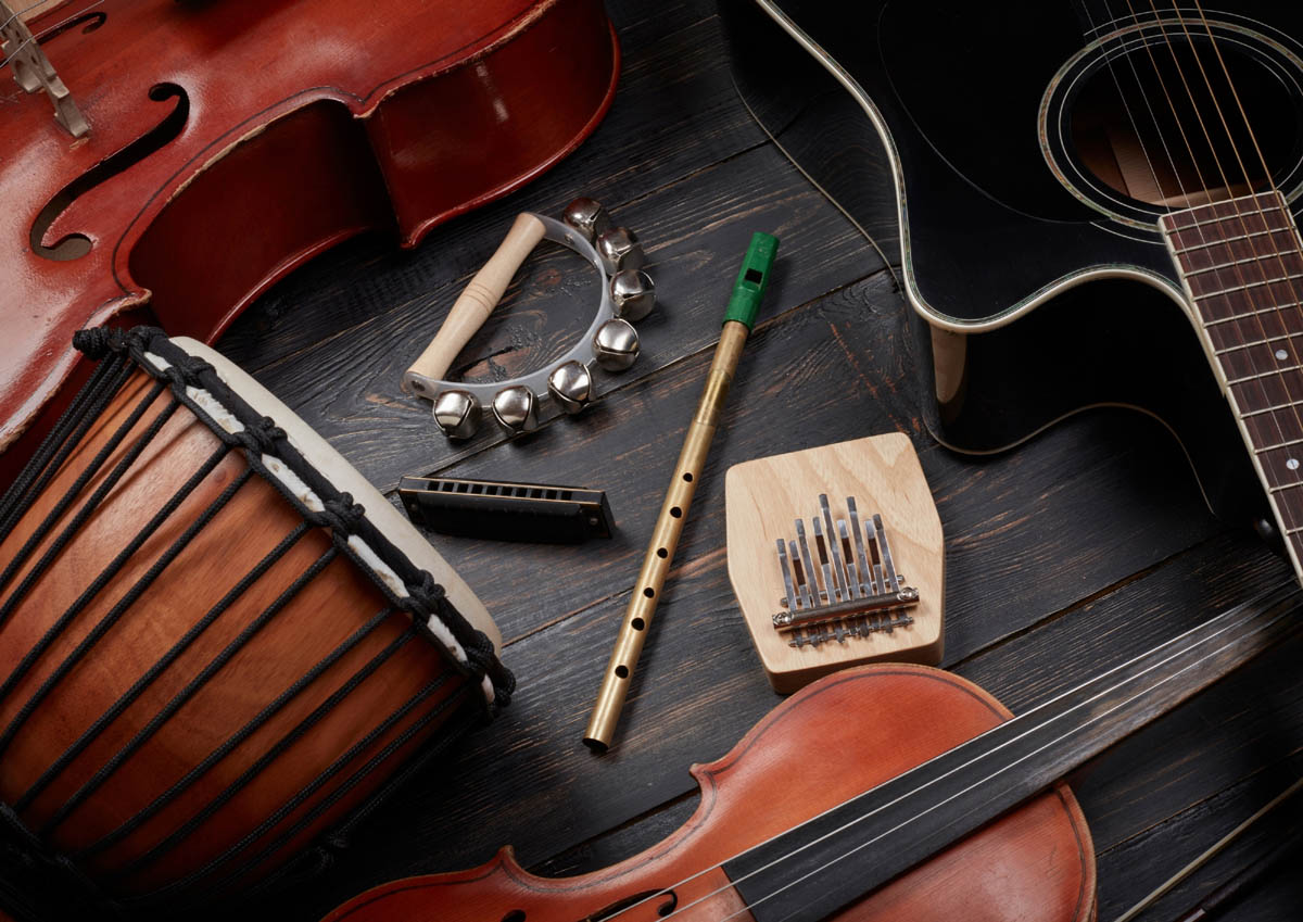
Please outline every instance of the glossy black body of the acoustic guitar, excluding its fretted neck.
M1256 520L1261 486L1157 225L1201 203L1200 176L1179 165L1182 151L1145 164L1179 137L1174 117L1154 115L1173 107L1151 70L1170 92L1182 86L1160 23L1171 30L1162 38L1187 36L1170 0L1153 16L1131 8L1144 13L1092 0L724 4L737 85L760 122L860 227L899 223L916 365L933 397L924 415L942 443L993 452L1084 408L1134 406L1173 430L1214 512ZM1303 8L1203 8L1247 115L1270 126L1259 141L1296 212ZM1118 30L1113 44L1097 40ZM1200 39L1191 47L1208 57ZM1127 134L1143 142L1118 139ZM1227 147L1217 152L1234 163ZM1199 169L1214 172L1205 159Z

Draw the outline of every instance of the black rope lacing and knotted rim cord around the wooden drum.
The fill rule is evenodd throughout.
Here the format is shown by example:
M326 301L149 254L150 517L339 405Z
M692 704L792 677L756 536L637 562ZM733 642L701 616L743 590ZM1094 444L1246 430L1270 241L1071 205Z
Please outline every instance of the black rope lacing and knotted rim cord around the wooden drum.
M23 469L18 479L9 491L0 499L0 539L3 539L13 526L21 520L26 509L36 496L50 484L55 473L69 458L70 453L90 430L99 414L108 402L126 385L130 376L139 369L152 375L156 380L146 389L137 405L128 414L125 421L112 434L108 443L96 453L85 470L82 470L68 492L53 505L51 513L38 525L33 537L23 543L16 559L0 573L0 589L21 570L27 559L50 535L55 525L70 509L73 501L85 491L86 486L99 475L108 458L117 452L126 436L134 431L146 413L152 408L164 389L171 391L171 400L159 409L154 419L143 432L136 436L136 441L125 451L122 458L113 465L93 495L86 499L79 509L73 513L70 522L64 526L64 531L53 538L47 551L36 560L23 576L20 585L12 591L3 604L0 604L0 626L16 609L22 598L36 583L40 574L46 572L51 561L70 540L72 534L81 527L93 512L104 501L106 496L119 483L136 458L145 451L149 443L158 435L179 406L186 406L192 413L203 419L208 428L222 440L222 445L203 460L199 469L163 504L149 522L146 522L129 544L115 556L113 561L100 572L87 586L77 600L51 625L46 634L26 654L14 672L0 685L0 701L8 697L18 685L21 678L30 672L36 660L44 655L57 641L64 629L76 619L77 613L104 587L113 574L116 574L125 561L139 550L139 547L152 535L158 527L179 508L181 501L190 495L198 483L207 478L216 466L229 454L232 449L242 449L248 468L214 499L208 507L198 514L198 518L173 543L163 551L149 570L141 576L126 594L119 599L102 620L91 628L87 636L77 645L73 652L60 663L53 672L42 682L36 693L25 702L23 707L10 720L9 725L0 732L0 754L13 742L18 731L27 721L57 682L82 660L94 645L122 617L130 606L143 594L151 582L171 564L181 551L193 540L202 527L216 516L227 501L244 486L254 473L261 475L297 509L302 517L300 522L281 542L272 548L262 561L232 586L225 595L215 603L188 632L179 638L173 646L163 654L122 695L115 701L33 783L29 789L17 800L16 805L0 803L0 818L12 827L21 841L29 848L39 849L42 858L51 866L61 869L65 874L72 874L83 888L95 891L95 886L79 871L79 862L102 853L111 845L121 841L134 831L139 830L151 817L156 815L168 803L190 788L205 772L212 768L223 758L231 754L241 742L249 738L259 727L265 725L278 711L280 711L297 694L308 688L335 662L343 658L361 639L369 636L375 628L384 622L396 611L403 611L410 616L410 626L392 641L384 650L362 665L347 682L337 688L326 701L315 707L308 716L298 721L291 731L285 732L254 764L246 768L237 779L192 815L181 826L155 843L145 853L136 857L129 863L116 869L111 875L113 880L129 878L145 867L152 865L171 849L175 849L189 836L197 833L203 823L216 814L220 807L233 798L258 774L265 770L279 755L284 754L297 740L306 734L332 707L339 705L348 694L371 676L379 665L394 655L400 647L410 642L413 637L421 636L448 654L448 662L455 663L468 681L455 693L444 695L434 707L427 708L416 720L403 728L395 738L390 740L378 753L343 780L318 802L302 810L305 803L318 794L358 755L370 749L377 741L383 738L392 729L397 728L404 719L417 711L446 684L447 673L440 675L426 684L392 714L380 720L366 732L349 750L341 754L323 772L308 783L301 790L284 801L281 806L265 819L254 831L248 833L238 843L227 848L222 854L207 861L203 866L190 873L181 880L162 887L143 897L130 897L130 904L158 904L177 895L189 895L197 886L216 875L227 865L255 844L268 832L275 830L281 822L294 815L292 826L275 837L275 841L266 844L257 854L245 859L233 870L229 870L220 880L202 888L202 895L229 892L229 887L241 876L258 869L270 858L278 854L288 843L309 828L317 819L331 810L349 790L357 787L367 775L382 766L395 753L409 745L422 731L440 719L448 718L450 710L463 711L461 705L470 698L468 692L483 685L485 702L489 711L496 710L507 703L513 688L513 678L500 663L498 663L493 643L481 632L476 630L446 598L442 586L435 583L434 577L417 569L396 547L394 547L375 526L367 521L362 507L353 503L347 492L337 491L324 477L313 469L297 449L289 443L285 432L274 421L255 414L240 397L225 387L211 365L197 359L182 349L172 344L159 331L151 328L137 328L130 332L119 329L93 329L82 331L77 335L74 344L91 358L100 359L90 379L81 388L69 409L56 422L50 436L44 439L29 465ZM244 630L214 656L207 665L192 678L185 688L177 692L172 699L159 711L134 737L126 742L91 777L89 777L77 792L66 800L53 815L43 823L38 833L26 828L21 813L30 807L35 798L46 790L53 780L64 771L79 753L82 753L117 716L122 714L137 698L171 665L190 643L198 638L203 630L211 625L242 593L254 583L267 569L270 569L292 546L294 546L313 527L322 527L330 533L331 546L318 560L280 595L268 604ZM391 604L375 613L369 621L358 626L353 634L345 638L335 650L330 651L308 672L298 677L292 685L281 690L268 702L254 718L242 728L229 736L222 745L214 749L205 759L190 768L182 777L175 781L165 792L159 794L151 803L139 810L136 815L124 820L116 830L102 836L72 856L55 854L48 844L43 844L43 836L48 836L61 823L72 818L78 806L99 789L168 719L190 699L212 676L222 669L261 628L270 622L276 613L305 586L313 577L321 573L340 553L349 557L364 572L373 574L373 581L380 591L388 596ZM448 723L457 723L457 731L469 725L480 718L470 712L460 721L448 718ZM339 849L344 844L347 832L366 814L374 810L382 797L390 793L407 777L410 777L421 764L425 764L435 753L440 751L450 741L451 736L443 738L429 738L423 742L423 751L413 759L405 768L397 771L380 788L371 793L345 817L328 839L318 845L308 856L301 856L297 862L284 865L272 875L262 880L258 889L267 889L278 882L289 876L298 876L304 865L311 862L317 867L324 867L331 861L331 850ZM296 815L296 811L302 815Z

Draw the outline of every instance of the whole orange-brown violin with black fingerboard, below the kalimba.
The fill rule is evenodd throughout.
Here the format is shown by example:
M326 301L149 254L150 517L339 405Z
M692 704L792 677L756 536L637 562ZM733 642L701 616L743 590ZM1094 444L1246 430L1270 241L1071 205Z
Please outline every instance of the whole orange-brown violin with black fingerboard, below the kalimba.
M1014 718L939 669L792 695L692 770L701 805L611 867L482 867L375 887L328 922L1089 922L1095 848L1059 780L1296 629L1293 580Z

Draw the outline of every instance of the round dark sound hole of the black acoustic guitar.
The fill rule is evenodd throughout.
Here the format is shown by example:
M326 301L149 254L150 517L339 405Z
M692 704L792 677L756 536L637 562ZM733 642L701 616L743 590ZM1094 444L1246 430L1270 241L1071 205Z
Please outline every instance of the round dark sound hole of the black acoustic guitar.
M1201 25L1188 29L1131 34L1126 52L1084 74L1071 103L1075 159L1131 202L1179 208L1244 195L1299 161L1298 74L1230 35L1214 47Z

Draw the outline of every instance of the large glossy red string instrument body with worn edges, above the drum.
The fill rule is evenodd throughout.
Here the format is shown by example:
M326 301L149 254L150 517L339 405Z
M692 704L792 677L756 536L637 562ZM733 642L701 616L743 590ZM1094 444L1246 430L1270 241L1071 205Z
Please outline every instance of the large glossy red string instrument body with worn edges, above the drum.
M212 340L341 240L413 246L573 150L619 70L601 0L69 0L29 25L90 133L0 91L0 449L48 428L73 331Z

